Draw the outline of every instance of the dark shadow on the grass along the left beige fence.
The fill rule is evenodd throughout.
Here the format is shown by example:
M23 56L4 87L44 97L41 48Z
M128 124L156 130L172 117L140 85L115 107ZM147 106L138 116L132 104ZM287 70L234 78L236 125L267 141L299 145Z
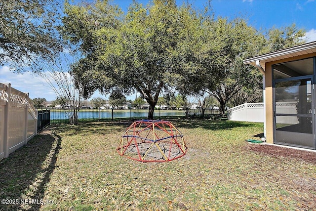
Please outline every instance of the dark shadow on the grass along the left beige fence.
M45 203L45 185L55 169L60 144L56 134L39 134L0 161L0 196L8 202L0 204L0 211L38 210Z

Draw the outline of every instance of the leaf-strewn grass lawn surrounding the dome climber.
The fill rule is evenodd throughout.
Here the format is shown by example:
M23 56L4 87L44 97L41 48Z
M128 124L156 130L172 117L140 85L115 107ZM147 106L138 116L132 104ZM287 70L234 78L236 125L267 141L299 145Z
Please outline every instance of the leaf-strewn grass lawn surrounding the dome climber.
M42 131L0 161L1 199L33 202L2 203L0 210L316 210L315 153L254 150L269 147L244 141L259 139L254 136L263 132L263 124L172 123L184 134L188 152L167 163L118 155L120 135L131 122ZM292 156L295 152L314 160Z

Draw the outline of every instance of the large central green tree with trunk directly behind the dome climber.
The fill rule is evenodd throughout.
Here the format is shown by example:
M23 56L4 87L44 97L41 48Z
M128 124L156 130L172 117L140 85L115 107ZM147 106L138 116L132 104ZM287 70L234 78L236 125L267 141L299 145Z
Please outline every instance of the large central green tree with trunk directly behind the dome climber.
M219 78L215 67L226 57L225 43L209 46L203 28L211 21L200 18L189 5L154 0L144 7L135 2L122 15L118 7L97 1L66 3L65 13L64 38L78 44L85 55L74 65L74 73L84 81L86 97L96 89L138 91L150 104L152 119L162 91L184 90L204 74L213 76L208 84Z

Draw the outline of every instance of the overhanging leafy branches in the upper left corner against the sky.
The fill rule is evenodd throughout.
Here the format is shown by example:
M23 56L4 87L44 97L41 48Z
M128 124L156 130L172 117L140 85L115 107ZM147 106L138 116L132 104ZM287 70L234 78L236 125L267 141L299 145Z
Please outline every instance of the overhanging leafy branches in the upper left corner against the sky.
M56 26L59 1L0 1L0 65L21 72L37 59L51 60L62 50Z

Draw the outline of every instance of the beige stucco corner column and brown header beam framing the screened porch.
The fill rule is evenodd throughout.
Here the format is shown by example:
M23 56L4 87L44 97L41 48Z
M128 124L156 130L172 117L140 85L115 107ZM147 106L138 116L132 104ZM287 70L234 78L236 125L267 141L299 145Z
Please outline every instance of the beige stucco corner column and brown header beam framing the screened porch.
M295 61L305 58L310 58L316 56L316 53L306 54L303 56L295 56L287 59L281 59L274 62L268 62L265 64L265 75L266 75L266 127L267 127L267 133L266 133L266 139L267 143L273 144L273 138L274 138L274 121L273 121L273 87L272 87L272 65L289 62L289 61Z

